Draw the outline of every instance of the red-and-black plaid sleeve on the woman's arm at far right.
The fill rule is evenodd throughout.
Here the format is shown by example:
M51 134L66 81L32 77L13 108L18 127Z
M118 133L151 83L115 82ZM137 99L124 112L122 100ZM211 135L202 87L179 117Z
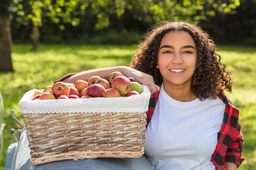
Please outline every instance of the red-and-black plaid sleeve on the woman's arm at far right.
M241 165L241 163L244 161L244 158L242 158L242 147L244 145L244 138L243 134L241 132L241 124L237 123L236 132L231 139L230 145L228 146L228 149L224 156L223 162L233 162L238 166Z

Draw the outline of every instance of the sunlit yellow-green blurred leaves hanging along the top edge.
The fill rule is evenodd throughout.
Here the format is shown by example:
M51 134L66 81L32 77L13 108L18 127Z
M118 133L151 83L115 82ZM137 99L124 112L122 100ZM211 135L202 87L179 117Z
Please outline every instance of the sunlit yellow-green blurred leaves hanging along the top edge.
M97 18L95 28L103 29L108 27L111 16L120 18L125 10L147 23L180 19L196 24L216 12L229 13L239 5L239 0L14 0L8 10L17 13L20 22L31 20L38 26L45 17L55 24L63 20L77 26L80 16L88 11L88 18Z

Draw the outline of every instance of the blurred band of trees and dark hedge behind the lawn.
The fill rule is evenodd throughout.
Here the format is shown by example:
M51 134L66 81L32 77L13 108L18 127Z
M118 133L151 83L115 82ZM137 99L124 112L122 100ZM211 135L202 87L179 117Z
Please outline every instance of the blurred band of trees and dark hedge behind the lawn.
M12 20L14 43L31 42L33 23L40 26L42 42L112 43L105 34L116 32L118 42L127 44L123 30L134 37L134 32L143 35L160 20L187 20L201 25L217 43L256 45L256 0L2 0L2 4ZM138 37L129 42L137 43Z

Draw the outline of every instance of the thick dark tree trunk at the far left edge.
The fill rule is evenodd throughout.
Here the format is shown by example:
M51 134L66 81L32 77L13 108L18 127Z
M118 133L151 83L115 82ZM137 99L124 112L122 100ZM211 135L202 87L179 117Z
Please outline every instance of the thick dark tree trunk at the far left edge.
M13 71L11 22L7 16L0 16L0 71Z

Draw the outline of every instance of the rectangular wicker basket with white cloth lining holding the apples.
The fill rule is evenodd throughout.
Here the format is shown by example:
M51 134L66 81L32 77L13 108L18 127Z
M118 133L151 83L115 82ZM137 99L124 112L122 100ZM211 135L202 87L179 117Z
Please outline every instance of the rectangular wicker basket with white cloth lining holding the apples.
M32 164L144 154L146 86L138 96L31 101L35 90L20 101Z

